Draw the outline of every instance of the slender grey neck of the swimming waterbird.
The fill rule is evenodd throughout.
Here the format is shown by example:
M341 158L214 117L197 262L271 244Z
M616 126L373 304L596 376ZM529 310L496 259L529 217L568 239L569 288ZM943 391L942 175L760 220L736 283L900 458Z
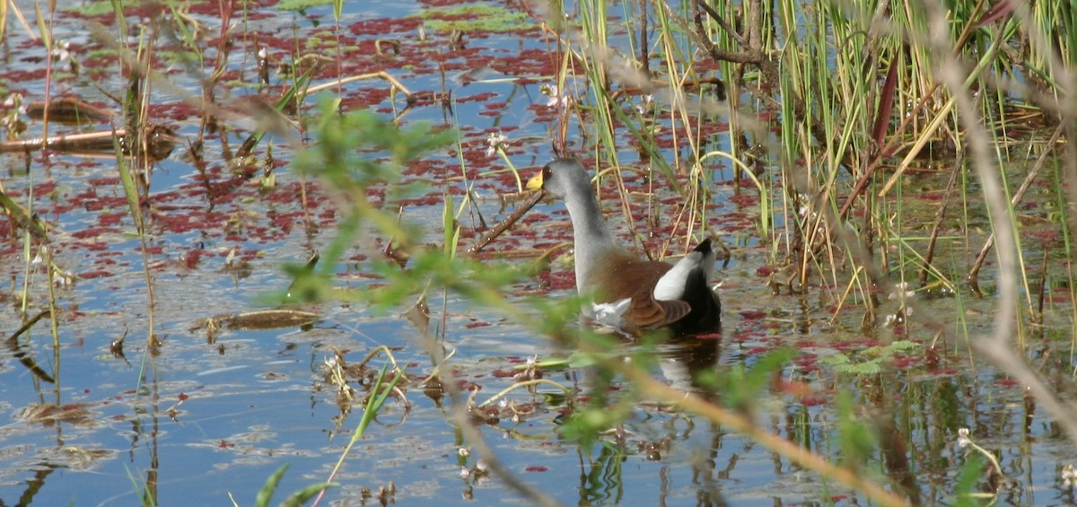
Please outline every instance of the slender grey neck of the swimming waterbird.
M576 287L583 293L591 287L585 287L586 274L599 263L603 252L617 250L617 241L602 219L598 200L590 185L583 188L573 187L564 199L572 219L573 240L576 251Z

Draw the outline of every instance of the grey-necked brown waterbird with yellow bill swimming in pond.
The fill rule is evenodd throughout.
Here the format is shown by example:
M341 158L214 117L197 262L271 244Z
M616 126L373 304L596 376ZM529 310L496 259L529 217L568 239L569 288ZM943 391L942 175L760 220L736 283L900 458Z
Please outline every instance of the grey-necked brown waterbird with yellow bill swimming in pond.
M593 295L593 307L584 309L593 323L627 336L661 327L679 336L719 328L722 301L711 290L715 252L710 238L675 265L640 258L614 237L587 169L574 158L550 161L527 187L553 194L569 210L576 290Z

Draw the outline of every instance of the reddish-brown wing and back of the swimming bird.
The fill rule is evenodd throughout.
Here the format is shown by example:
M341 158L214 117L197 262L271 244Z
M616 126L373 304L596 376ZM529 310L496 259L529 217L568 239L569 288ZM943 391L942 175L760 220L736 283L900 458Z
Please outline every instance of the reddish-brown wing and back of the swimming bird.
M587 277L587 288L597 291L596 302L614 302L626 297L631 306L626 314L628 324L655 328L676 322L691 311L685 301L655 299L655 284L673 266L657 260L635 258L627 252L607 254L601 266Z

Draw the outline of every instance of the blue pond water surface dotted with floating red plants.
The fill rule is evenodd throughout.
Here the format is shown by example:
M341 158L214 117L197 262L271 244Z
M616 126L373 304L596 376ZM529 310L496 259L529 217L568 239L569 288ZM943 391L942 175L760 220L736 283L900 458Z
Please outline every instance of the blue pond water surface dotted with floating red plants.
M499 65L499 59L527 51L546 52L550 47L551 42L538 29L538 23L531 19L532 28L523 31L468 33L467 50L461 50L468 53L446 58L447 65L457 62L466 67L479 62L474 66L489 69L474 74L480 76L477 82L466 82L471 69L446 70L443 85L442 69L434 60L442 52L451 51L445 46L446 33L428 30L428 41L419 41L416 29L377 34L350 31L350 27L374 19L400 19L433 8L424 2L392 1L345 5L340 26L348 40L344 42L346 55L341 61L355 65L349 68L349 73L359 72L358 64L365 62L370 66L367 71L386 69L412 90L439 93L443 86L451 90L456 99L451 112L436 103L421 105L405 116L404 124L432 122L459 127L465 165L472 169L468 178L475 182L478 209L486 222L495 223L512 212L512 207L501 208L498 197L512 192L513 183L508 178L490 174L492 170L504 169L504 164L496 156L487 157L485 143L488 132L504 130L510 139L510 160L526 174L553 157L549 139L556 130L556 115L545 109L546 97L540 90L542 84L553 83L553 76L523 70L516 74L509 72L514 70L512 67ZM334 26L327 6L302 13L272 6L251 9L252 13L267 17L255 16L248 25L239 25L237 33L257 33L263 42L283 41L269 44L274 57L279 59L291 58L297 44L304 54L314 53L303 44L324 38ZM206 26L207 37L212 40L220 30L214 25L219 18L201 11L195 17ZM137 19L132 14L128 20ZM234 20L241 20L239 13ZM82 46L80 58L88 59L99 48L86 36L87 25L74 16L59 14L56 26L58 38ZM114 31L115 25L108 28ZM132 33L135 37L138 32ZM43 54L24 31L12 30L8 37L12 48L4 50L11 52L5 66L19 70L41 67L38 60L24 58ZM624 33L618 37L618 41L624 41ZM373 58L368 43L375 38L398 40L410 48L424 47L425 53L421 54L425 58L419 61L393 55ZM229 68L237 75L230 75L229 80L237 79L239 70L246 82L254 80L252 41L251 38L235 40ZM215 46L209 47L208 59L215 54L212 48ZM109 65L112 67L108 71L95 73L95 69L89 69L81 76L61 75L55 86L74 90L94 102L108 103L92 83L111 91L126 85L115 64ZM162 69L166 67L163 65ZM167 68L172 69L167 74L169 82L197 96L197 76ZM514 83L512 79L516 78L526 78L527 82ZM327 81L324 75L316 79L316 83ZM276 97L284 86L277 75L272 82L275 87L267 91L269 97ZM43 76L28 82L0 76L0 85L22 90L28 100L43 98L40 96ZM570 85L583 90L582 81ZM219 91L224 103L232 103L227 101L230 97L225 96L253 93L253 87L235 86L227 93L225 88L222 85ZM391 116L394 105L397 110L403 107L401 99L391 102L386 97L369 103L361 100L370 89L384 88L380 80L349 84L345 103ZM180 95L158 83L153 98L167 103L179 100ZM485 98L473 100L473 97ZM582 93L579 99L587 100ZM505 105L493 108L492 114L486 108L501 102ZM0 413L6 416L0 425L0 503L134 505L140 502L140 490L149 484L160 504L224 505L235 498L240 505L250 505L268 477L283 464L291 464L274 496L275 502L280 502L291 492L328 478L362 412L362 404L358 402L350 414L339 420L341 410L322 372L333 350L348 351L346 357L354 364L378 344L386 344L393 348L394 356L406 365L410 375L421 377L433 371L429 355L417 339L419 330L402 316L404 309L378 312L359 305L326 302L309 308L324 316L309 329L222 330L215 339L209 339L205 330L193 329L195 324L213 315L264 308L260 296L284 290L290 283L282 267L303 264L311 253L324 248L333 237L338 214L334 213L327 193L308 180L312 219L306 222L298 198L302 177L284 167L277 168L275 191L261 194L256 178L239 181L228 187L230 197L211 203L200 183L199 170L185 154L186 142L193 141L197 133L198 118L176 121L174 126L184 142L157 165L152 177L151 201L158 207L154 211L155 223L160 227L151 229L150 239L150 247L155 248L150 258L155 302L153 330L163 340L153 354L146 339L149 302L143 259L139 242L131 235L134 226L122 198L123 189L114 182L114 159L70 155L54 155L47 160L34 158L27 175L16 172L25 165L22 158L14 155L2 158L8 169L4 188L17 196L19 202L27 202L26 189L31 183L55 184L53 195L39 197L31 206L52 224L50 238L57 265L76 277L97 270L109 274L79 278L73 286L57 288L59 364L54 363L47 320L19 340L45 370L59 371L55 385L36 380L12 350L0 350ZM30 127L31 132L41 128L39 124ZM589 133L592 132L570 131L573 149L587 153L584 138ZM228 149L234 151L246 136L247 132L229 133L225 138ZM618 152L623 163L637 164L638 155L630 147L631 136L627 131L620 131L619 136L624 141ZM230 178L224 160L228 150L221 138L206 139L204 156L212 169L211 184L222 184ZM286 140L277 137L271 140L276 159L289 160L294 156ZM268 141L260 146L257 157L265 156L266 144ZM711 149L727 147L728 137L719 136ZM459 174L459 159L448 153L432 158L434 167L430 172L408 174L406 179L425 181L433 188L445 184L454 189L459 205L463 182L450 180ZM830 322L831 301L824 297L813 295L809 300L771 293L756 271L770 264L767 249L758 247L758 238L750 227L758 207L729 200L732 172L728 166L716 166L710 178L717 205L712 211L711 231L735 247L732 259L717 273L726 281L725 334L710 353L671 347L653 368L654 374L679 388L700 391L690 380L693 372L752 366L760 349L789 344L803 353L826 356L840 353L835 343L863 338L855 328L858 322ZM95 183L102 179L113 182ZM92 191L108 202L103 211L85 203ZM660 197L669 197L662 192L658 188ZM442 220L439 196L437 193L438 198L431 203L406 208L406 219L433 224L430 229L436 229ZM69 209L67 205L74 201L80 205ZM613 211L611 216L617 220L619 203L611 199L607 205ZM542 205L535 213L549 216L520 228L535 231L545 242L565 241L570 235L564 215L557 213L559 210L560 205ZM123 219L103 237L72 236L98 226L102 216L109 214ZM185 214L193 216L187 230L171 230L162 225L167 216ZM289 225L272 220L281 215L289 217L285 221ZM464 221L466 227L478 223L474 213L465 213ZM621 222L617 224L623 228ZM644 230L646 227L641 226L638 231ZM439 234L431 233L429 239L439 241ZM362 244L349 254L377 252L381 244L375 244L375 240L383 239L364 237ZM465 238L462 243L466 245L473 240ZM17 237L6 240L0 255L0 269L10 280L2 292L0 312L0 330L5 334L22 323L19 300L14 295L23 292L24 282L29 286L30 314L44 309L47 302L44 271L34 267L27 274L20 241ZM513 244L512 240L503 239L492 249L520 248ZM526 248L528 243L519 244ZM98 249L103 249L104 254ZM248 271L226 265L226 255L234 249L249 263ZM192 268L184 257L193 252L202 257ZM949 255L956 258L963 253L959 248ZM495 257L491 262L501 260ZM355 276L364 265L359 266L358 270L341 266L336 283L364 288L377 282ZM555 264L554 269L569 268ZM514 297L543 293L540 280L526 280L509 291ZM569 292L554 291L545 297L563 297ZM980 311L990 314L990 302L968 301L960 307L945 299L928 305L950 314L982 306L987 310ZM508 371L528 357L555 352L547 337L456 296L443 301L435 291L429 305L431 329L440 332L444 325L445 343L456 351L452 365L459 379L481 388L478 402L513 383L508 378L495 377L494 372ZM894 310L894 305L889 305L883 311ZM747 318L745 312L764 312L766 318ZM983 325L982 319L977 320L975 314L968 319L974 321L970 325L974 332L987 329L977 327ZM885 336L886 330L878 333L880 336L875 338L893 338ZM918 339L929 340L932 336L922 327L914 333L919 333ZM109 343L125 334L126 360L113 357ZM1051 336L1062 334L1060 326L1052 329ZM379 356L372 366L379 368L384 361L383 355ZM956 447L956 429L963 426L973 427L978 442L999 452L1006 473L1020 481L1021 488L1007 490L999 502L1023 505L1071 502L1068 490L1057 480L1057 471L1072 459L1073 447L1050 425L1038 406L1026 403L1021 386L1002 382L1008 378L988 367L971 370L967 357L955 360L946 355L942 363L938 367L917 364L864 378L825 369L801 369L799 363L789 365L783 369L782 378L803 382L827 403L809 403L788 393L765 390L758 395L754 418L772 433L840 460L839 418L834 398L842 390L852 391L858 393L866 406L885 413L898 428L922 503L952 502L949 494L964 463L964 451ZM584 375L578 370L554 371L547 378L569 388L586 389ZM362 385L355 385L362 397ZM700 392L718 398L723 394ZM703 418L656 404L628 408L623 446L611 435L587 446L574 443L559 433L565 405L553 396L556 393L548 386L538 388L534 395L515 391L508 399L533 410L518 422L503 417L496 425L484 425L480 431L507 471L559 502L589 505L864 502L861 496L850 496L843 487L827 483L738 434ZM360 505L364 503L363 489L376 493L393 483L395 493L391 498L397 505L521 502L518 493L494 476L461 474L464 467L474 470L477 451L468 457L461 456L459 450L471 446L462 440L452 423L452 404L448 398L435 402L418 385L408 386L406 395L409 408L393 398L367 428L335 479L339 487L330 491L327 501L334 505ZM67 418L57 422L19 416L28 407L42 404L67 407ZM648 447L658 450L651 455L653 459L648 459ZM866 456L865 463L867 477L889 484L892 470L878 449ZM377 499L365 501L367 505L373 503Z

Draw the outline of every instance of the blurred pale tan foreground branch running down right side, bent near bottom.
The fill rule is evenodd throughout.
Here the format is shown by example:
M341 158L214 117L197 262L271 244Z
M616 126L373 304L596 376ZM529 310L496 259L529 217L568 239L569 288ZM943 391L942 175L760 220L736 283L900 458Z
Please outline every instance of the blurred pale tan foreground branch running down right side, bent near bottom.
M1062 404L1054 396L1054 390L1029 366L1027 361L1018 355L1015 350L1012 336L1016 327L1017 315L1017 241L1013 237L1013 221L1006 207L1006 194L1003 192L1002 183L998 181L996 165L991 157L991 145L983 126L979 123L979 114L976 107L963 88L964 76L961 70L964 68L961 62L950 53L947 47L949 39L948 18L946 9L938 0L926 2L931 10L928 25L932 44L935 45L937 55L943 55L943 61L938 67L938 75L942 83L950 88L956 101L959 116L968 132L969 143L976 160L976 169L980 175L980 183L983 187L984 200L988 202L988 211L991 213L992 222L995 224L995 249L998 255L998 306L995 311L994 332L991 336L973 340L973 348L983 354L996 366L1012 375L1019 382L1024 384L1032 395L1039 402L1040 406L1047 410L1053 421L1066 432L1069 441L1077 442L1077 413L1073 408ZM1063 122L1064 124L1065 122ZM1074 182L1071 182L1074 183Z

